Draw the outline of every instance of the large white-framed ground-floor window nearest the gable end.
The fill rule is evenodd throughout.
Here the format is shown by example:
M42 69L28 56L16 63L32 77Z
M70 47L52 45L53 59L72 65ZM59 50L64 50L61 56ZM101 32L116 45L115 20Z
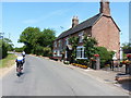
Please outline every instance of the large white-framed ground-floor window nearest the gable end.
M85 51L83 46L79 46L76 48L76 59L86 59L85 58Z

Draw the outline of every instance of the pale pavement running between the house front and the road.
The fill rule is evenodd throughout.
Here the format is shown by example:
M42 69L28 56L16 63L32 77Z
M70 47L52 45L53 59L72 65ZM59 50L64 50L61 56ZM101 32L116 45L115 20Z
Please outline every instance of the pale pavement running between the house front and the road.
M58 62L61 63L62 65L67 65L60 61L58 61ZM68 66L75 69L75 70L80 71L81 73L86 74L102 83L117 86L117 87L121 88L122 90L124 90L126 93L129 93L131 95L131 79L123 79L120 82L116 81L116 76L118 76L118 74L124 73L124 66L117 68L117 69L115 69L115 71L111 71L109 69L108 70L81 69L78 66L73 66L72 64L68 64Z

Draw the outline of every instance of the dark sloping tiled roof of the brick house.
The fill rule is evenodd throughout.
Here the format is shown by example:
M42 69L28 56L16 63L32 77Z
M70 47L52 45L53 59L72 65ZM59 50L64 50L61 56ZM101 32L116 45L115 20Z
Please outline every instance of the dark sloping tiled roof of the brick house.
M80 24L76 25L75 27L70 28L70 29L63 32L62 34L60 34L60 35L58 36L57 39L60 39L60 38L63 38L63 37L66 37L66 36L68 36L68 35L74 34L74 33L76 33L76 32L79 32L79 30L82 30L82 29L84 29L84 28L92 27L92 26L97 22L97 20L98 20L102 15L103 15L102 13L96 14L95 16L93 16L93 17L91 17L91 19L88 19L88 20L86 20L86 21L84 21L84 22L82 22L82 23L80 23ZM56 40L57 40L57 39L56 39Z

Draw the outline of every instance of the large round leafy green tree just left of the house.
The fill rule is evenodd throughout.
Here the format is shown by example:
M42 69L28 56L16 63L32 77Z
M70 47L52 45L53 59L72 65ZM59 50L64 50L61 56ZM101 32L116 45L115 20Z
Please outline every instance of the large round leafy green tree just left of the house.
M44 29L40 32L38 27L27 27L21 34L19 42L24 42L25 52L43 54L44 48L52 48L52 41L55 40L55 30L53 29Z

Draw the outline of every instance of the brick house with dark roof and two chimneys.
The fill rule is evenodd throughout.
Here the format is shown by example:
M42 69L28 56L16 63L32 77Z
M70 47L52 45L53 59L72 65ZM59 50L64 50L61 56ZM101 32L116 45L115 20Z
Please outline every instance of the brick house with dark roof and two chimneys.
M53 41L53 57L61 59L64 51L64 59L70 59L71 45L69 38L79 36L80 41L76 48L76 59L86 59L83 47L83 36L94 37L97 46L106 47L115 51L115 57L120 58L120 28L110 15L108 0L100 0L99 13L79 24L78 16L72 19L72 27L60 34Z

